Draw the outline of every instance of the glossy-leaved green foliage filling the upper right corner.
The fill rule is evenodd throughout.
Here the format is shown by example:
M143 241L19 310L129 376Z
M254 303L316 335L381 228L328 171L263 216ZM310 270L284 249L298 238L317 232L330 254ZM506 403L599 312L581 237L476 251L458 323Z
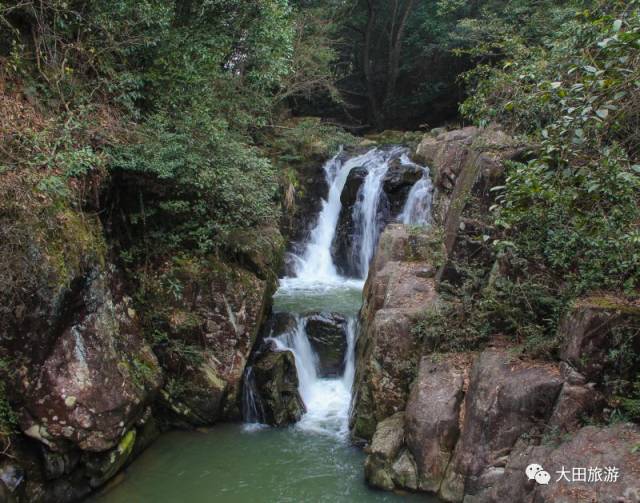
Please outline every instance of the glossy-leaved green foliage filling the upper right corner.
M563 19L567 8L547 17ZM509 166L496 222L511 252L574 295L640 285L640 143L636 2L574 11L545 43L506 33L500 66L468 75L462 111L528 135L534 159ZM551 279L553 278L553 279Z

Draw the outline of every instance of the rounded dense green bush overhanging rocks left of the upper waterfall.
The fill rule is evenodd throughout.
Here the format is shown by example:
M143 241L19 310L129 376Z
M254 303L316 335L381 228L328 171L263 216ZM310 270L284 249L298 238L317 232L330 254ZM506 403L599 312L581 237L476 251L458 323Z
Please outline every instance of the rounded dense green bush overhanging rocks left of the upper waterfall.
M159 186L140 185L145 202L130 218L162 249L206 253L219 248L231 230L276 218L272 164L224 124L206 115L169 120L156 114L143 134L144 141L114 151L114 165L158 180Z

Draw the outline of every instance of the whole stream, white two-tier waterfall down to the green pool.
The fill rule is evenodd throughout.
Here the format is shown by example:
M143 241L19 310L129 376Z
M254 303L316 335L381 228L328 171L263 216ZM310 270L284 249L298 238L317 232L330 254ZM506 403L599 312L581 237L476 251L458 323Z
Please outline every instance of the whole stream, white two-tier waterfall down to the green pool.
M274 312L290 313L297 320L293 330L275 335L273 343L278 350L290 350L295 356L299 393L307 409L301 420L287 428L270 428L245 411L244 424L165 434L92 501L437 501L424 494L369 489L363 475L366 455L349 438L357 313L364 278L381 231L378 204L382 179L390 162L398 158L402 163L411 162L405 149L394 147L372 149L346 160L337 155L325 164L327 199L304 252L293 257L294 273L281 278L274 296ZM331 247L347 176L351 169L362 166L368 174L352 210L357 229L352 255L359 277L345 278L337 272ZM431 184L427 175L425 170L425 177L409 193L398 220L407 224L428 223ZM338 313L348 320L344 372L339 377L319 376L318 356L304 324L306 314L313 312Z

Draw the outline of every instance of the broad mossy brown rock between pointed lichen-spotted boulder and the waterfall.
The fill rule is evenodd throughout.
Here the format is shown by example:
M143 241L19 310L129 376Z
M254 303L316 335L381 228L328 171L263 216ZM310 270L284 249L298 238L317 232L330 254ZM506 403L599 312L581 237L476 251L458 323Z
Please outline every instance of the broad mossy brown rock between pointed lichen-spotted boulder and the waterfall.
M213 257L182 257L147 285L148 330L166 334L154 349L167 372L168 420L202 426L240 418L242 376L275 281Z

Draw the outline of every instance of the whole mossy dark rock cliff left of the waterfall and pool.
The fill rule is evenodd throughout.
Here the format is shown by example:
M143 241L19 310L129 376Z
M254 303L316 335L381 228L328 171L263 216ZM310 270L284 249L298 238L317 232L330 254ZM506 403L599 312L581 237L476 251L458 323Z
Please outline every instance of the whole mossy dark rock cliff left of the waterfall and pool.
M279 232L234 236L233 260L154 264L142 288L114 265L92 211L10 176L0 175L0 491L75 501L161 429L238 418Z

